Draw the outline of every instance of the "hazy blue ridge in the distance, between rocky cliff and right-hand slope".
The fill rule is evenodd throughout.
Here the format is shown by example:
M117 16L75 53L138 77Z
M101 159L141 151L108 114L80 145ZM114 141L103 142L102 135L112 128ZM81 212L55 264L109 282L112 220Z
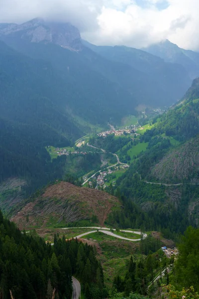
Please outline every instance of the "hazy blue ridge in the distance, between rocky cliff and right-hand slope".
M147 53L146 51L129 48L126 46L96 46L87 41L84 45L106 59L129 65L138 74L145 74L144 89L148 93L154 91L152 103L155 105L173 104L180 99L191 85L191 79L183 66L174 62L165 62L163 59ZM151 90L155 86L155 89ZM158 96L158 97L157 97ZM147 102L145 102L147 104Z

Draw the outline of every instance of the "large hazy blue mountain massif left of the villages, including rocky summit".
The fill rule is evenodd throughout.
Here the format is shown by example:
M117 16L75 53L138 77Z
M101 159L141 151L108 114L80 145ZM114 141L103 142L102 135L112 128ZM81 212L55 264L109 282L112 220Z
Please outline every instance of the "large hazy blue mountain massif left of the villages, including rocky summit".
M68 169L66 157L51 161L45 147L71 146L93 128L119 124L138 104L170 105L187 82L181 67L143 51L124 48L131 64L105 58L68 23L0 24L0 39L0 182L21 178L31 192Z

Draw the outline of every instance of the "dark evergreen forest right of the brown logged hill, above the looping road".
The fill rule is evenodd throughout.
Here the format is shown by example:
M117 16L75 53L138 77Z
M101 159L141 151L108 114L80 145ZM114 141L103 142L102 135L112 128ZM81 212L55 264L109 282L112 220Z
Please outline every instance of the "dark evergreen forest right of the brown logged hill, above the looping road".
M123 208L120 211L113 211L106 219L107 224L124 229L134 227L141 229L143 232L156 230L162 232L165 237L173 239L176 239L179 233L183 233L188 224L196 225L195 220L189 218L188 211L185 209L186 205L176 209L171 202L164 203L164 200L159 202L160 194L156 192L155 188L151 189L151 196L155 199L155 202L150 207L150 198L147 197L149 190L146 189L146 193L143 194L142 187L144 185L138 184L135 186L135 182L132 180L133 186L130 192L137 190L139 193L129 196L129 198L121 195ZM119 188L117 192L120 193ZM137 198L140 199L139 203L136 200ZM145 200L146 208L143 208L143 204L140 205L141 200Z

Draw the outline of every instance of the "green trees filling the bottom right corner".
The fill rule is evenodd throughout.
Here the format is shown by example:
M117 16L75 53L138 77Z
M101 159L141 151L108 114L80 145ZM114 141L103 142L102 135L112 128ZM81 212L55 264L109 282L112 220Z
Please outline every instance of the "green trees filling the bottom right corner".
M140 250L145 255L131 256L126 263L124 276L114 277L112 291L109 293L110 299L144 299L146 295L154 298L154 294L150 294L150 290L153 292L155 284L158 285L157 298L199 298L199 293L197 293L199 292L199 229L187 228L178 244L177 260L174 256L166 257L162 250L157 250L158 246L160 244L151 236L141 241ZM166 268L169 269L169 272ZM161 276L148 289L147 286L155 279L156 273L164 272L164 270L165 285L162 287L163 276Z

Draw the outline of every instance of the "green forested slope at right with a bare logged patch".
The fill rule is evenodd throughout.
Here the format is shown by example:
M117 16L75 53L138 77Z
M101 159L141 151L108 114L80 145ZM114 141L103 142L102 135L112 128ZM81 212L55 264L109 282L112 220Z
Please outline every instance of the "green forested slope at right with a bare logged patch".
M198 225L199 217L199 79L183 101L154 120L154 128L140 137L147 149L135 157L117 180L121 192L142 209L162 214L170 232ZM156 220L155 220L156 221Z

